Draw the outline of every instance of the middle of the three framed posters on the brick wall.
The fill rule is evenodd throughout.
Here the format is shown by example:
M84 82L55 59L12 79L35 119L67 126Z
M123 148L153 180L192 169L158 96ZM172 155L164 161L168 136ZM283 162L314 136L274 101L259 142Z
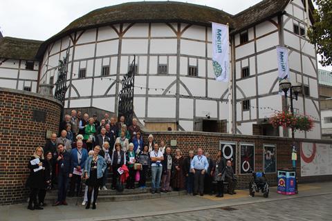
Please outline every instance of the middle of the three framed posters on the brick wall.
M240 146L240 173L251 173L255 170L255 147L253 144Z

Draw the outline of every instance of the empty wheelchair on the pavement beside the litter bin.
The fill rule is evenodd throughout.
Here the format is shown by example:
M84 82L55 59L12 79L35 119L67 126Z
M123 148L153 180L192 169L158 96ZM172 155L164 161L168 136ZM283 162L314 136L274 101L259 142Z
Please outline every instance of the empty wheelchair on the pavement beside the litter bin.
M263 193L264 198L268 198L269 184L266 181L265 173L262 172L252 172L253 180L250 182L249 194L255 197L255 193Z

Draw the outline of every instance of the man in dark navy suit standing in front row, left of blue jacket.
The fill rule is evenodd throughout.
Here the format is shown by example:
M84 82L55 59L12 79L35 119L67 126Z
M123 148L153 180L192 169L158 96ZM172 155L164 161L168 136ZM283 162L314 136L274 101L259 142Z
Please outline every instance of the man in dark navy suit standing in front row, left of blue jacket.
M63 144L57 144L57 202L53 206L68 205L66 202L66 193L68 187L68 178L71 173L71 155L66 151Z

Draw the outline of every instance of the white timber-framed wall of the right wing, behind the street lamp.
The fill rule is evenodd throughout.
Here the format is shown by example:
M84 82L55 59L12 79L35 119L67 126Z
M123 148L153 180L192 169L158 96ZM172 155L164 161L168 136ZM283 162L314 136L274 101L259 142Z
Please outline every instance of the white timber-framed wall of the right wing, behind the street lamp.
M268 119L274 113L271 108L282 111L283 100L278 94L276 46L284 46L288 48L291 82L302 83L308 86L310 91L309 95L300 94L298 100L293 101L295 111L316 118L312 131L295 132L295 137L321 138L321 124L320 120L317 120L320 119L317 53L315 46L310 44L305 36L294 33L293 23L306 30L306 10L301 0L291 1L281 17L273 17L235 35L237 133L252 135L252 124L259 124L259 120ZM240 35L245 32L248 32L248 41L241 44ZM246 67L249 68L250 76L242 77L241 70ZM303 89L302 87L302 91ZM250 108L247 111L243 111L242 106L245 100L250 100ZM282 134L280 128L279 135Z

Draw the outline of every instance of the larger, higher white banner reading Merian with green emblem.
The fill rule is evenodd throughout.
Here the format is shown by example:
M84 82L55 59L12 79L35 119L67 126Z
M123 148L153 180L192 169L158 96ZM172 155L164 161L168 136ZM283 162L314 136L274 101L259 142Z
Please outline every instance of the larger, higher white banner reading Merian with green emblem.
M217 81L228 82L230 45L228 26L212 23L212 64Z

